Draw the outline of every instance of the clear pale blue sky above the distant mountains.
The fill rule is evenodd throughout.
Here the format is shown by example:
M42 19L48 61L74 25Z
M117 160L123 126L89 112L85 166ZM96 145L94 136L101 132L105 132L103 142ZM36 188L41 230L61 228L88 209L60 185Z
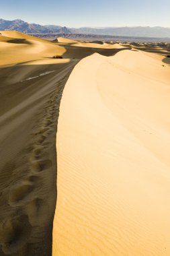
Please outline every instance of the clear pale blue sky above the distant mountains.
M170 0L0 0L0 18L81 26L170 27Z

